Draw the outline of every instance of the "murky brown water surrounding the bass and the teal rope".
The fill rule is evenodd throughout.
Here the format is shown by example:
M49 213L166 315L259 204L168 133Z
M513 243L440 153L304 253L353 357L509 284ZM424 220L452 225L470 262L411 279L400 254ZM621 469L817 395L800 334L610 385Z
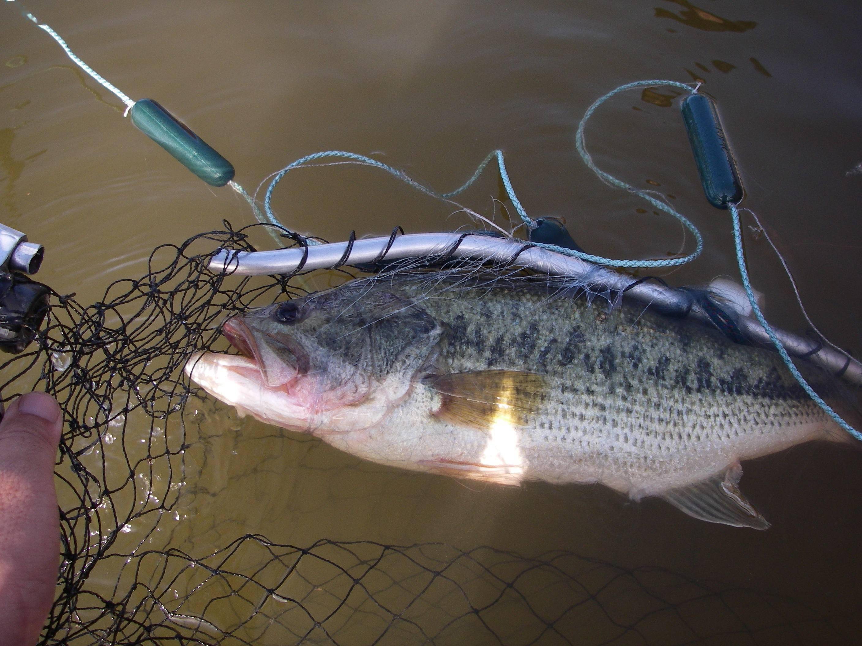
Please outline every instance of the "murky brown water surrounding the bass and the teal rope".
M582 246L618 258L676 252L680 227L639 214L640 202L591 175L573 146L578 120L619 84L703 79L740 162L745 205L775 233L817 325L835 343L859 349L862 171L854 169L862 162L862 10L851 0L28 7L130 96L171 109L233 162L247 189L309 152L340 149L372 154L447 190L501 147L530 214L565 216ZM253 221L230 189L198 181L122 119L116 97L84 78L47 34L9 6L0 9L0 221L46 246L41 281L89 302L112 280L143 274L155 245L219 228L223 219ZM728 215L703 199L676 103L663 102L630 94L606 105L590 124L594 158L636 186L675 196L701 228L703 257L669 281L734 275ZM499 218L498 196L489 172L463 202ZM291 173L274 207L288 226L333 240L352 229L363 235L467 223L361 167ZM260 235L259 244L272 243ZM747 252L767 315L803 329L765 241L749 240ZM721 581L796 604L782 613L758 594L747 605L734 597L721 612L705 607L688 635L658 615L647 637L627 633L610 643L708 643L739 625L722 614L731 611L734 621L744 618L739 643L850 643L862 628L862 463L853 450L806 445L747 463L746 493L773 523L755 532L700 523L658 501L630 504L603 488L465 487L359 463L221 409L201 415L183 513L164 532L164 544L188 553L209 554L249 532L297 545L328 538L482 545L527 556L567 550L626 571L666 568L685 581ZM249 575L254 562L248 556L243 566ZM109 585L110 571L100 575ZM176 585L191 588L194 579ZM538 606L553 606L547 589L531 594ZM622 603L601 600L597 607ZM277 616L278 608L262 612ZM251 614L215 605L206 617L224 628L240 625L243 613ZM540 643L612 639L601 618L566 617ZM498 621L516 624L521 616L512 611L508 624ZM270 631L259 624L234 630L254 643L290 643L274 632L278 622ZM345 643L363 643L365 633L348 635ZM404 643L417 640L404 633ZM465 627L440 643L497 642Z

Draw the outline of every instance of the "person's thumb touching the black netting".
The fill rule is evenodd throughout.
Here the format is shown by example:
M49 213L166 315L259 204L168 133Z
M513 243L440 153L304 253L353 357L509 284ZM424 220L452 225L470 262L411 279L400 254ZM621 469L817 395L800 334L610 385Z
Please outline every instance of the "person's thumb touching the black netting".
M59 565L53 469L57 401L28 393L0 422L0 646L31 646L51 610Z

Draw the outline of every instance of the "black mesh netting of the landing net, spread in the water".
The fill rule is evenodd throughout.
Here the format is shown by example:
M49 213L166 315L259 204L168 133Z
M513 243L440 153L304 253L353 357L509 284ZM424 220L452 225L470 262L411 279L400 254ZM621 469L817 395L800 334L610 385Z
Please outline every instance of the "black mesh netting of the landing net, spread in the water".
M55 295L38 343L3 363L3 401L43 388L65 413L63 560L43 643L797 643L831 634L792 599L565 551L325 537L291 545L242 526L216 528L219 549L203 547L177 521L190 496L218 493L199 484L217 460L189 454L206 444L205 420L228 413L198 396L182 367L192 351L226 346L226 314L303 293L295 277L210 273L206 261L222 247L252 250L244 233L206 233L159 247L146 276L111 284L90 306Z

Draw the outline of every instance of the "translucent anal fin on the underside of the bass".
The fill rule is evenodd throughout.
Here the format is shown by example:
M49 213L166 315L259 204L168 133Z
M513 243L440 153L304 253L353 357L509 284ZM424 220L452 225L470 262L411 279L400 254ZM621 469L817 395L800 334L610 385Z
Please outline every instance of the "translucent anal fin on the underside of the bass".
M769 528L769 522L760 515L739 488L742 469L731 465L727 472L689 487L673 489L662 498L682 512L709 523L734 527Z

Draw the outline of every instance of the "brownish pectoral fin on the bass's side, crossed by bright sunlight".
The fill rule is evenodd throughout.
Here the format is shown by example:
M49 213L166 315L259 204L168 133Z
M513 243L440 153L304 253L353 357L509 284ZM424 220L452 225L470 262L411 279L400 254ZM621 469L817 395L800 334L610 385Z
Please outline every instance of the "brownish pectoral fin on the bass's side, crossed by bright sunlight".
M545 378L533 372L474 370L428 376L425 381L440 393L435 417L482 430L528 425L545 399Z

